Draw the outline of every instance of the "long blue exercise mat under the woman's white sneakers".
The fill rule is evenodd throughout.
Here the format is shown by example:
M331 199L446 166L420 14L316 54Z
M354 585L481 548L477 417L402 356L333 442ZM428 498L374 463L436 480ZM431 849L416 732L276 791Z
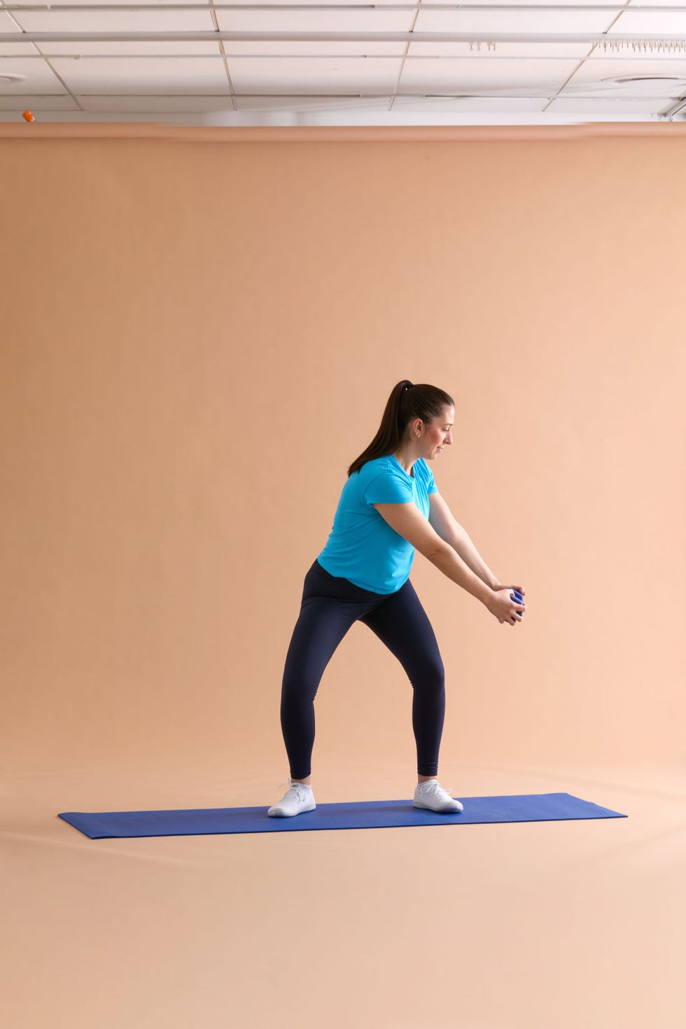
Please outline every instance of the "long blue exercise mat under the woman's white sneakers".
M627 818L571 793L461 796L464 811L440 815L412 802L355 801L318 804L291 818L270 818L267 808L201 808L172 811L65 811L66 822L92 840L112 837L197 836L216 832L302 832L308 829L378 829L401 825L474 825L546 822L568 818Z

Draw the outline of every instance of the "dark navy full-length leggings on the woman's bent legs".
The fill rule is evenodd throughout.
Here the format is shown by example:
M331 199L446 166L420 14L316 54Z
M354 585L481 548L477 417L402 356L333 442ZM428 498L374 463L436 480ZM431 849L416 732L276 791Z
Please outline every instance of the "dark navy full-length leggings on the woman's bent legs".
M362 590L330 575L315 559L304 577L300 614L286 655L281 729L291 779L312 772L315 697L324 669L353 623L363 622L404 668L412 685L419 775L438 774L445 716L445 673L427 613L409 579L391 594Z

